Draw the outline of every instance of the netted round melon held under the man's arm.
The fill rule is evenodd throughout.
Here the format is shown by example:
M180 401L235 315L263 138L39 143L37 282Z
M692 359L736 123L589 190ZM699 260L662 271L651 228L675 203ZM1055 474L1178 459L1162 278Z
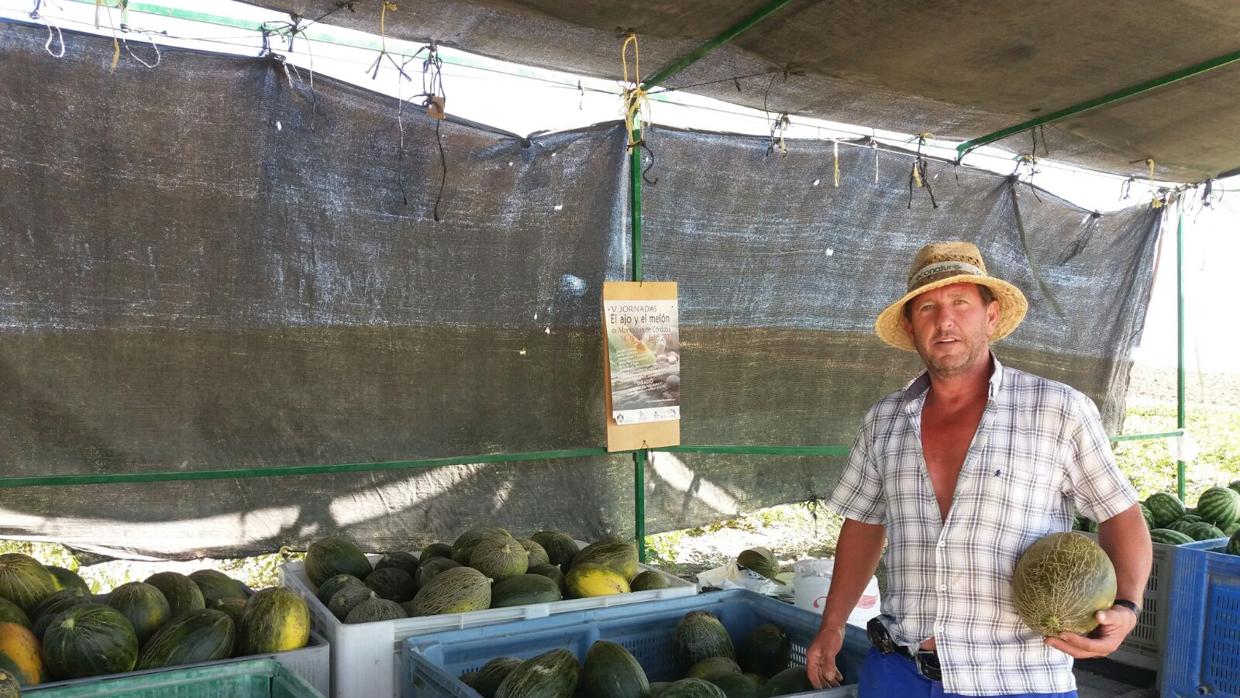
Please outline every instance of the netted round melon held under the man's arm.
M1021 619L1044 636L1084 635L1097 627L1095 614L1115 603L1115 567L1086 536L1043 536L1017 559L1012 603Z

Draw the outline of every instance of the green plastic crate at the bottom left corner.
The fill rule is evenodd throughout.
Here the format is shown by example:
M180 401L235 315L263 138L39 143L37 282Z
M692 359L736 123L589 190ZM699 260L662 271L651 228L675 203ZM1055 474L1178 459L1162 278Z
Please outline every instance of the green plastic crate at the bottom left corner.
M40 691L38 698L324 698L275 660L170 669Z

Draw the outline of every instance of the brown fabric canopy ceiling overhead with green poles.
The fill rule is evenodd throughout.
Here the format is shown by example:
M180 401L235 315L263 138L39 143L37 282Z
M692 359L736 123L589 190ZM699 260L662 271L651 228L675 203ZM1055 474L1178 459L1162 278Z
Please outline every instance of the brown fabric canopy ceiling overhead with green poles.
M262 0L268 9L377 31L377 0ZM620 79L636 31L652 74L765 0L440 0L399 4L387 35ZM339 7L339 9L337 9ZM667 87L748 107L970 140L1240 51L1240 4L1214 0L792 0ZM786 78L784 68L795 73ZM734 82L734 76L753 76ZM775 77L773 82L773 76ZM738 92L738 84L740 91ZM1045 129L1054 160L1197 182L1240 167L1240 64L1228 64ZM1032 148L1029 133L996 145Z

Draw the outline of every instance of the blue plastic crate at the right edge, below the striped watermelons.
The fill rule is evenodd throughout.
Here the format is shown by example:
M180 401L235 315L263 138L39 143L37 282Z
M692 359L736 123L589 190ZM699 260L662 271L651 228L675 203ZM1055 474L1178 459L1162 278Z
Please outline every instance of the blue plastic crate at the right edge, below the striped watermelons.
M1240 697L1240 555L1220 541L1179 547L1162 694Z

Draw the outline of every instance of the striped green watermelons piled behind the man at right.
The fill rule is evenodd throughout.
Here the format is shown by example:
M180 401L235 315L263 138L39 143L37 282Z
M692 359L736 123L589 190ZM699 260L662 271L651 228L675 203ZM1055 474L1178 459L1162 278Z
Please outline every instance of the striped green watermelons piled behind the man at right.
M1183 546L1215 538L1236 539L1240 533L1240 480L1226 487L1205 490L1193 508L1185 508L1184 502L1171 492L1153 493L1141 503L1141 513L1154 543ZM1074 528L1097 532L1096 523L1079 516ZM1236 544L1240 550L1240 541Z

